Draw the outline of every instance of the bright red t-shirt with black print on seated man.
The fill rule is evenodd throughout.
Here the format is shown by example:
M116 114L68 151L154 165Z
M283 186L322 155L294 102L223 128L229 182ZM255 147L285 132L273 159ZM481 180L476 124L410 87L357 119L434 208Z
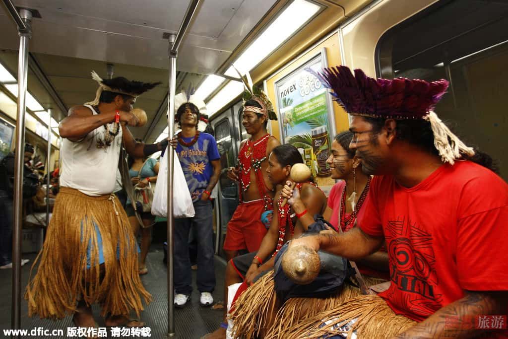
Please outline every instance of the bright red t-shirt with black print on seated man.
M386 239L391 309L422 321L464 290L508 290L508 185L469 161L444 164L412 188L374 177L359 225Z

